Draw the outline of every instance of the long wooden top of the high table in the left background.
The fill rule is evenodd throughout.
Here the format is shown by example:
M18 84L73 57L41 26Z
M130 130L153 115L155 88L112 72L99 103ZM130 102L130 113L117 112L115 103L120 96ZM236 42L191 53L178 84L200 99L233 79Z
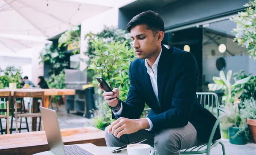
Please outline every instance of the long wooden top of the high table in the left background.
M44 92L45 96L55 95L75 95L75 89L0 89L0 91L12 91L13 92Z

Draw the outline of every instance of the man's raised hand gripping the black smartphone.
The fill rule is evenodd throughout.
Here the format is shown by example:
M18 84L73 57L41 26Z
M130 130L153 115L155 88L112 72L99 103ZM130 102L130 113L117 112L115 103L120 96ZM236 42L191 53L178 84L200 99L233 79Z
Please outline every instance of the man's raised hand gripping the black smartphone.
M107 101L108 105L112 106L112 107L115 107L118 103L119 90L117 88L114 88L113 92L105 92L105 90L102 88L100 83L98 84L98 87L104 91L102 96Z

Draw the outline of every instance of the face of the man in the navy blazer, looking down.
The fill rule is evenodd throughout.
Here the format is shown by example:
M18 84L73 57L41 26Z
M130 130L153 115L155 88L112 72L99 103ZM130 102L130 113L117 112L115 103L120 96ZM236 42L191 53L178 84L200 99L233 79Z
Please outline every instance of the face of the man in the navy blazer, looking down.
M147 25L137 25L131 29L133 48L139 59L150 59L157 51L157 34L154 36Z

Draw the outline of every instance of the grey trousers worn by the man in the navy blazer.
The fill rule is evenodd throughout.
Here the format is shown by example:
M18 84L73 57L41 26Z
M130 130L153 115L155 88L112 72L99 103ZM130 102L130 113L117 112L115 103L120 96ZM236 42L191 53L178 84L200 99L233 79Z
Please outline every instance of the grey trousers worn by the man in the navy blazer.
M122 135L120 138L108 133L108 127L105 129L107 146L121 147L143 138L148 139L144 142L145 144L154 145L158 155L180 155L181 149L201 144L197 138L196 129L190 122L184 127L163 129L155 134L143 129L132 134Z

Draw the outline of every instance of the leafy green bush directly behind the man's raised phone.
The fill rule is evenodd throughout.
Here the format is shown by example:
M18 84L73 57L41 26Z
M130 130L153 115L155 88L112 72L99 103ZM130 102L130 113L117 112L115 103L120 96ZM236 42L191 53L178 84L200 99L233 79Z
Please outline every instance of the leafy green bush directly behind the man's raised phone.
M126 46L126 42L104 43L104 40L100 39L91 40L91 42L96 49L96 57L91 60L92 64L88 69L95 71L96 77L104 78L112 89L118 88L119 99L126 100L130 86L129 64L135 59L134 50ZM93 84L98 85L98 81L93 80ZM101 96L103 92L101 89L98 90L96 92ZM97 110L93 111L93 124L104 130L112 122L111 110L102 98L96 101L96 108Z

